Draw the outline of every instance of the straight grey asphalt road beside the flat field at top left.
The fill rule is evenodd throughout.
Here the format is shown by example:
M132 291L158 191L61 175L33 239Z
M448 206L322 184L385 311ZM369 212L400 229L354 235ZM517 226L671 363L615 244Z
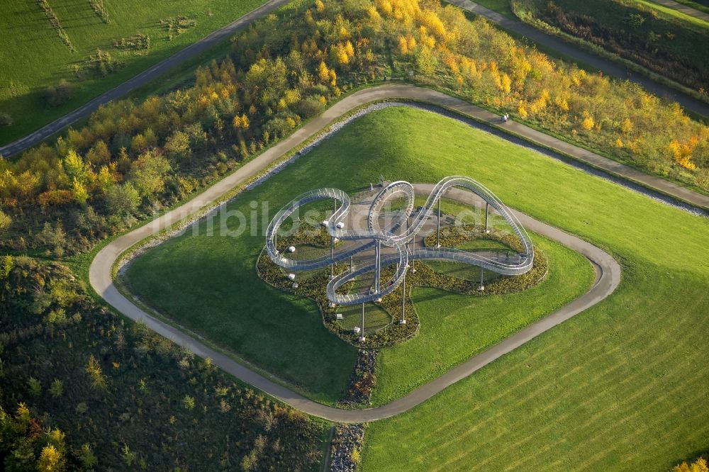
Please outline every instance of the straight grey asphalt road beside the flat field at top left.
M57 120L52 121L52 123L43 126L35 132L30 133L29 135L26 135L25 137L22 137L19 140L13 141L9 145L0 147L0 155L4 157L9 157L13 154L17 154L18 152L22 152L34 145L37 145L38 143L50 137L51 135L58 133L62 129L71 125L75 121L81 120L82 118L87 118L89 115L91 115L91 113L96 111L99 106L104 105L104 103L119 99L121 98L121 96L128 94L128 92L137 89L139 86L145 85L152 79L160 77L162 74L168 72L173 67L177 67L179 64L182 64L182 62L194 59L194 57L199 56L202 52L208 50L213 45L216 45L220 41L229 38L239 28L247 26L248 24L253 23L257 19L267 16L272 11L279 9L281 6L284 6L285 4L289 3L289 1L290 0L267 1L262 6L259 6L257 9L251 11L250 13L246 13L244 16L238 18L238 20L234 21L233 23L229 23L227 26L214 31L213 33L208 36L205 36L196 43L192 43L184 49L179 50L174 55L168 57L165 60L162 60L161 62L158 62L152 67L149 67L148 69L145 69L143 72L140 72L140 74L136 75L135 77L128 79L126 82L123 82L123 84L117 86L115 89L106 91L104 94L97 96L95 99L84 103L84 105L68 113L67 115L62 116L62 118L57 118Z

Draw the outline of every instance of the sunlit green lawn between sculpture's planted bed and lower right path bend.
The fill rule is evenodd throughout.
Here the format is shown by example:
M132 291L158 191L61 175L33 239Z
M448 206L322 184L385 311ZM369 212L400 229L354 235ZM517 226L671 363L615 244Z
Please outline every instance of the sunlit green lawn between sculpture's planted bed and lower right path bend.
M537 235L532 242L547 254L549 274L526 291L474 297L451 295L439 288L413 289L411 299L421 322L418 336L381 350L373 403L401 397L591 287L593 270L583 256Z

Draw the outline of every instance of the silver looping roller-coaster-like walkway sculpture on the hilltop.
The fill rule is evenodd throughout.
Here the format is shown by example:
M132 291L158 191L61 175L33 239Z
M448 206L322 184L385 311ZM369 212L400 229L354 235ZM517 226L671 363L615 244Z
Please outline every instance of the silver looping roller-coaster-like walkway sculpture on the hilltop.
M423 225L430 217L435 203L440 203L440 199L444 193L452 188L460 187L467 189L477 196L482 198L487 205L491 206L496 212L506 220L512 227L513 232L520 240L523 252L518 254L516 258L508 258L505 261L486 257L483 254L468 252L463 249L453 249L450 247L425 247L420 249L410 249L408 243L413 240L415 235L420 232ZM398 211L393 218L389 228L382 228L379 225L379 216L382 214L382 208L386 201L393 198L403 196L406 198L406 205ZM515 215L486 187L469 177L464 176L449 176L439 181L428 199L415 215L413 223L407 224L402 230L404 223L414 216L414 190L413 186L406 181L392 182L384 187L373 199L367 214L367 230L350 231L345 229L344 220L350 213L352 202L350 196L340 189L315 189L303 193L288 203L284 208L274 216L269 224L266 232L266 251L271 260L283 267L292 271L305 271L312 269L320 269L337 262L345 261L350 257L360 252L374 248L374 262L357 268L351 268L342 274L334 276L330 279L327 286L328 299L337 305L357 305L369 301L378 300L383 296L393 292L398 285L404 280L406 271L408 270L408 262L410 260L428 259L437 261L454 261L463 262L478 266L481 269L496 272L508 276L525 274L532 269L534 262L534 248L530 241L527 232L522 227L520 222L515 218ZM342 241L357 241L361 242L354 247L346 248L335 253L334 248L331 249L330 257L320 257L317 259L295 260L286 257L277 250L276 238L277 232L281 225L301 206L319 200L334 200L339 203L339 208L336 208L330 219L326 222L328 234L334 242L335 239ZM438 211L440 220L440 206ZM325 223L325 222L323 222ZM334 243L333 243L334 244ZM393 254L381 255L381 246L393 247L396 252ZM397 269L392 278L384 286L381 286L380 276L381 267L396 264ZM374 272L374 287L369 293L337 293L337 289L345 285L345 283L354 281L358 276Z

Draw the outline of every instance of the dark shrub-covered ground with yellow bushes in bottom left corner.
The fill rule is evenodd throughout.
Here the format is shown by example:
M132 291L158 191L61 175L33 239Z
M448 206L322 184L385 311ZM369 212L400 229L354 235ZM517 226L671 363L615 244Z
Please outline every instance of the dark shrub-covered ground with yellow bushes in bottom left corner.
M322 459L323 423L96 307L60 264L0 258L0 343L3 470L290 471Z

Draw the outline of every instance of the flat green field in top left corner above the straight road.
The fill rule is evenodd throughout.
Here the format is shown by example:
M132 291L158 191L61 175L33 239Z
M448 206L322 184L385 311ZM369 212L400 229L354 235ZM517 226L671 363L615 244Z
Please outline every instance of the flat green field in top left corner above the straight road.
M94 12L89 0L48 0L74 47L69 50L35 0L0 0L0 30L6 33L0 48L0 113L14 123L0 128L0 145L26 135L41 125L72 111L82 103L121 84L150 65L255 9L262 0L103 0L108 23ZM169 40L168 18L184 16L194 26ZM162 24L160 21L163 21ZM150 36L149 49L116 47L115 40L139 33ZM99 48L121 66L104 77L86 67L86 59ZM74 71L79 67L77 77ZM66 79L73 98L48 107L48 86Z

